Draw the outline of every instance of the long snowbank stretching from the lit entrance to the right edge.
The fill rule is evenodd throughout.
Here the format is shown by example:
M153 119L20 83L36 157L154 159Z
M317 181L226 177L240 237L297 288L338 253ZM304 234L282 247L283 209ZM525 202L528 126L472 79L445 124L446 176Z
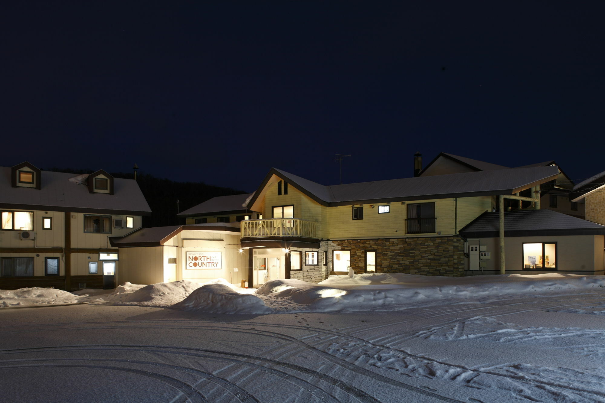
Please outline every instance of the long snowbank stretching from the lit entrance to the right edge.
M267 306L284 309L278 299L288 300L294 310L307 312L360 312L407 309L450 300L480 300L505 295L535 295L554 290L587 290L605 287L603 276L571 274L482 275L428 277L410 274L359 274L330 276L319 284L301 280L272 280L257 294ZM295 307L296 306L296 307ZM294 308L295 307L295 308ZM287 310L287 308L286 308Z

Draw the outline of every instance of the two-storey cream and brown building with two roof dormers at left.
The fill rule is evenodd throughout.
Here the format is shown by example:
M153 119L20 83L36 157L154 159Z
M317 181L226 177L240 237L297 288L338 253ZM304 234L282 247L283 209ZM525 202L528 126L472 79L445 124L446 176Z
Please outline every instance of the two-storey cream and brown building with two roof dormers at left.
M108 237L151 210L134 180L74 175L24 162L0 167L0 289L113 288L119 250Z

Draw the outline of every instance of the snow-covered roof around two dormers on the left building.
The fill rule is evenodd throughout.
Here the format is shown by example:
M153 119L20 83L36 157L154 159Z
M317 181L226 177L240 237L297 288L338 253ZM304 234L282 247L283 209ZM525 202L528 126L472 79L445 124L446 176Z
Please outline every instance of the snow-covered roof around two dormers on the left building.
M41 171L41 188L13 188L11 168L0 167L0 208L37 209L97 214L150 215L151 209L136 180L114 179L114 194L90 193L76 174ZM82 175L80 175L82 176Z

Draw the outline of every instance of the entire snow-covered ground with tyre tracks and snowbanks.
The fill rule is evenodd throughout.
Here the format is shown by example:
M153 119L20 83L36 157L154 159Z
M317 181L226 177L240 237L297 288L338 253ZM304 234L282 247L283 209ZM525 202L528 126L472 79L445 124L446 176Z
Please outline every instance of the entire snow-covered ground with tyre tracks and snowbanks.
M0 401L605 402L605 277L379 274L252 292L0 290ZM11 309L32 304L54 306Z

